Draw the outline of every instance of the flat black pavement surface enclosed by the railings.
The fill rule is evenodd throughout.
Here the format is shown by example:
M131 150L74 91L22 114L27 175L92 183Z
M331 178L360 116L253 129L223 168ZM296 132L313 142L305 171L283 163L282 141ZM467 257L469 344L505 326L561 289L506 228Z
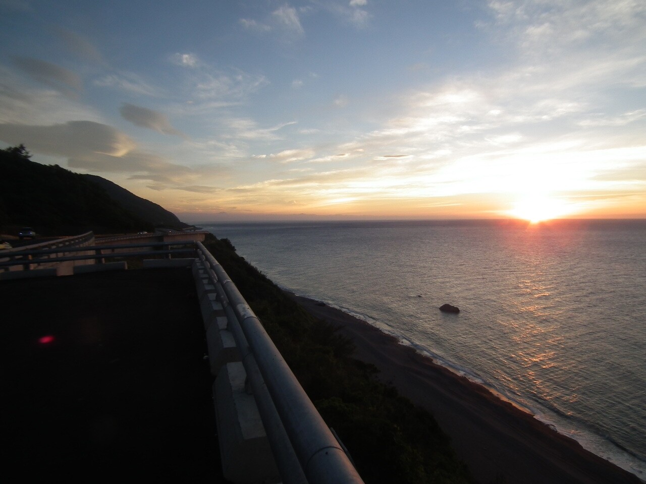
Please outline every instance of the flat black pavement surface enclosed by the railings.
M190 269L2 281L0 300L5 475L224 481Z

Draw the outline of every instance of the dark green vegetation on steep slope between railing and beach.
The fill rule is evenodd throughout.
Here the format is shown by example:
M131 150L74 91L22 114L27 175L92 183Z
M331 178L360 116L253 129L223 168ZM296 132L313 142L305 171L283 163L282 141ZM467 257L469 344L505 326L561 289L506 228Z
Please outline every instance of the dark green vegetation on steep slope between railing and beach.
M238 256L228 239L211 236L205 247L262 320L366 483L471 482L435 419L379 383L375 367L352 358L349 339L315 320Z

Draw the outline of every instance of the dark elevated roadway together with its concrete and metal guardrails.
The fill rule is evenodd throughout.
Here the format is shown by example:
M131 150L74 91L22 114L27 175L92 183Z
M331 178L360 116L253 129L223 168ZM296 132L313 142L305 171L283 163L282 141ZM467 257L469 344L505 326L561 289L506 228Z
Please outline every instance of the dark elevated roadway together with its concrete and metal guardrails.
M84 244L87 237L94 241L90 232ZM87 480L103 469L100 480L110 482L127 474L172 482L362 483L202 243L123 242L16 252L28 266L54 268L27 267L21 275L28 277L0 280L0 363L8 369L0 379L7 404L0 428L10 474L29 468L30 477ZM188 252L198 257L147 259L140 270L101 263L58 277L61 264L124 249L138 256L187 252L172 248L178 244L193 246ZM68 255L75 252L92 253Z

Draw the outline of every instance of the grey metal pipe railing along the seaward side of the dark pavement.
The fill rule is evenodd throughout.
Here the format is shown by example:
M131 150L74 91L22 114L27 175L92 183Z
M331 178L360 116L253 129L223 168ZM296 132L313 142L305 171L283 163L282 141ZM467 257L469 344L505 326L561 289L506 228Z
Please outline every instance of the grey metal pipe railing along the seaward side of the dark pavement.
M342 445L224 268L202 243L196 245L227 312L283 481L289 484L363 483Z

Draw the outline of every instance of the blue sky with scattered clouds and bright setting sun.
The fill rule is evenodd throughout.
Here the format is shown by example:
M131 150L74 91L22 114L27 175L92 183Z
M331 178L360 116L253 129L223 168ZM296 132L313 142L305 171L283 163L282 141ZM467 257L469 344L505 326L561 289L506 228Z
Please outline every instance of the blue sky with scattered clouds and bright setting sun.
M183 221L646 217L643 0L0 0L0 147Z

